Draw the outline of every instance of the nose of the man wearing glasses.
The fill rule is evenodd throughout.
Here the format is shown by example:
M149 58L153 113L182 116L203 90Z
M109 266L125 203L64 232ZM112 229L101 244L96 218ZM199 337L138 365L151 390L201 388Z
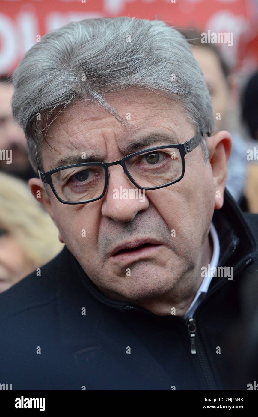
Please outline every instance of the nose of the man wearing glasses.
M108 189L102 204L102 215L118 223L132 221L149 206L145 191L136 188L121 166L109 168Z

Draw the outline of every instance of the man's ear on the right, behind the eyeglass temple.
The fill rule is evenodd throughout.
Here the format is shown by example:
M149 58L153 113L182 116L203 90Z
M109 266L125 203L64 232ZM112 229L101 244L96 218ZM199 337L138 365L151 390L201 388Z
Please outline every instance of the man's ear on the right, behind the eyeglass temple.
M232 138L227 131L220 131L207 139L210 149L210 165L215 186L215 209L223 206L223 194L228 176L228 160L232 149Z

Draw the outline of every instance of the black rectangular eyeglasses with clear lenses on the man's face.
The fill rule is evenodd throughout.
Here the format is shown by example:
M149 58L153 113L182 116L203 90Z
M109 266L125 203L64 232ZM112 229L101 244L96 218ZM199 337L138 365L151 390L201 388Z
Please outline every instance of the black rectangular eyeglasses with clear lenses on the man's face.
M185 155L210 132L205 126L189 141L131 153L115 162L85 162L40 173L56 198L64 204L85 204L103 198L108 187L108 167L121 165L137 188L156 190L180 181L185 173Z

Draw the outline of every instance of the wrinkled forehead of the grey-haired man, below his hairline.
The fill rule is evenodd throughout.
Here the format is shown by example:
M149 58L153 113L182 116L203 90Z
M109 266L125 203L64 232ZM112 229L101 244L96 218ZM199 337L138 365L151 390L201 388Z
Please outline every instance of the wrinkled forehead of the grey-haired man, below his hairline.
M100 137L101 133L105 134L106 130L119 135L121 140L130 140L132 136L141 135L141 131L146 128L170 126L175 130L175 126L181 124L183 128L185 123L184 112L175 103L172 105L167 102L164 107L161 107L157 101L151 108L145 106L145 103L128 104L124 111L119 108L116 108L116 111L124 118L124 124L96 103L92 107L85 106L85 103L76 103L72 109L65 109L52 122L48 128L47 137L49 139L60 138L62 141L64 137L69 137L74 141L76 139L87 141L87 138Z

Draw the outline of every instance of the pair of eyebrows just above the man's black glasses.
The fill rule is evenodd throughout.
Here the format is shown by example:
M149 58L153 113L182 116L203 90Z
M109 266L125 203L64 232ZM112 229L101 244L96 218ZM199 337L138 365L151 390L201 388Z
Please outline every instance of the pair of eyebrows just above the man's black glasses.
M144 151L145 149L148 149L157 143L160 145L173 145L174 143L178 143L178 139L175 138L175 136L169 135L167 133L154 132L149 133L147 136L134 138L128 143L128 145L119 146L119 150L124 156L127 156L134 152ZM103 155L100 153L89 153L85 156L85 158L82 158L81 155L64 156L63 158L58 159L52 169L84 162L103 162Z

